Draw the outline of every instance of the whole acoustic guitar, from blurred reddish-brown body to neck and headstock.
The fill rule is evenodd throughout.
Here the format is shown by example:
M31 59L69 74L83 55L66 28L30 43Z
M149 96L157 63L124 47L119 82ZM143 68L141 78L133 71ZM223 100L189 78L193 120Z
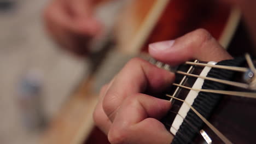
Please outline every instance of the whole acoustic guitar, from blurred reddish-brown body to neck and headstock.
M240 12L239 10L232 8L229 5L219 3L218 1L149 0L145 2L142 0L137 0L127 3L126 8L124 8L124 13L121 14L120 17L122 19L120 19L120 21L118 22L115 31L115 47L117 48L115 48L112 54L108 54L108 58L114 60L112 60L110 63L108 60L106 60L107 62L101 64L103 66L97 70L97 73L92 74L91 76L89 76L89 78L82 81L77 91L74 92L72 97L68 100L67 104L63 106L63 109L61 110L59 115L56 116L53 123L51 123L51 127L45 132L42 143L108 143L107 137L104 136L104 134L102 134L100 130L94 127L94 123L92 121L92 112L94 110L95 104L97 103L97 91L94 91L94 89L96 85L95 83L97 83L98 79L100 79L101 83L108 82L110 77L117 73L117 70L114 70L113 72L112 69L118 67L117 65L123 65L129 59L129 57L135 56L137 55L137 53L147 52L147 45L149 43L161 40L175 39L187 32L193 31L196 28L207 29L207 31L209 31L213 35L213 37L219 41L220 44L222 44L224 47L228 47L230 40L232 39L232 36L236 31L236 27L240 21ZM113 55L115 56L115 58L113 58ZM116 57L118 55L120 55L119 59ZM125 59L124 57L128 58ZM113 61L121 61L122 64L119 63L115 65L113 64ZM243 113L245 110L249 111L249 109L251 108L251 110L253 110L254 102L253 100L251 100L251 98L247 99L238 96L225 96L224 98L220 98L222 96L218 95L218 98L216 98L214 104L209 104L208 101L204 101L206 105L211 105L211 109L206 112L207 114L204 114L202 116L205 118L210 118L210 120L207 121L213 123L213 126L219 129L219 131L222 131L223 135L227 134L228 136L225 137L228 137L226 139L228 139L229 141L223 142L223 137L216 136L216 134L214 133L215 131L211 131L210 128L208 128L208 125L204 124L205 121L200 119L200 117L198 118L197 115L191 116L196 118L196 122L194 122L194 119L187 120L187 115L181 116L183 121L180 122L179 127L183 128L184 122L189 123L187 124L188 127L193 127L192 130L188 129L188 131L193 131L189 134L187 134L187 132L183 132L187 131L186 129L180 131L180 129L177 128L178 126L174 127L172 125L173 123L176 123L176 121L174 120L176 119L176 117L179 116L179 109L182 107L181 100L184 100L186 98L184 95L188 95L189 90L186 90L186 88L188 89L188 87L193 87L195 81L199 79L197 77L193 78L193 80L190 80L190 78L193 77L191 75L200 75L201 71L204 71L204 68L201 67L202 65L197 65L201 63L205 62L196 61L192 64L187 63L185 66L181 66L179 69L179 73L177 74L180 75L180 77L176 80L177 85L171 88L171 90L168 92L169 95L164 95L165 98L172 99L172 103L174 105L173 109L170 110L169 115L162 119L162 122L166 124L166 128L177 137L174 139L173 142L177 141L178 143L211 143L210 139L212 143L224 143L229 141L235 143L236 141L238 143L251 142L249 138L248 141L246 141L247 138L244 138L244 141L242 141L239 137L245 137L245 135L252 136L253 134L255 134L253 133L253 128L255 128L254 126L249 126L247 127L247 129L244 127L246 124L251 125L254 117L249 116L249 114L241 115L241 117L246 116L246 120L249 119L249 121L247 122L241 121L237 118L240 117L240 114ZM236 62L226 63L218 63L217 65L232 65ZM235 67L240 66L240 64L243 65L244 63L246 63L246 61L241 61L237 63L239 65L235 65ZM206 68L210 69L209 67L211 65L205 66ZM106 68L108 70L106 70ZM183 70L183 72L181 70ZM212 70L220 71L220 73L222 73L222 71L226 72L226 69L219 70L218 68L212 68ZM104 74L101 74L100 71L104 74L106 74L107 71L110 71L107 73L109 79L102 80L101 78L98 78L102 77L102 75L103 77L106 76ZM245 69L243 72L245 72ZM209 72L208 75L210 75L211 73ZM226 80L226 78L224 79L223 77L220 77L218 79ZM226 81L230 81L230 79L231 77L229 78L229 80ZM188 84L190 84L190 86ZM203 86L204 85L206 84L203 83ZM224 86L219 86L218 88L220 90L223 87ZM177 92L173 94L173 91L176 91L173 89L177 88ZM196 89L198 90L198 88ZM253 95L255 95L255 93L253 93ZM210 99L212 99L212 97L214 96L212 95ZM241 101L241 99L245 100L242 102L243 104L237 102ZM229 103L233 103L234 101L238 105L229 105ZM250 105L246 102L250 103ZM192 106L194 107L194 105ZM237 107L241 106L245 107L245 109L241 109L239 111L232 111L237 110ZM226 109L230 111L225 111L225 109L223 109L222 107L227 107ZM191 107L189 108L189 112L192 111L191 113L193 113L194 111L191 110ZM205 109L205 107L201 107L200 109ZM222 109L224 111L222 111ZM197 109L195 110L198 111ZM235 114L236 112L238 113L237 115L231 115L232 113ZM227 113L230 114L230 116L228 116ZM188 116L190 116L190 113L188 113ZM248 116L250 118L248 118ZM236 119L236 121L234 119ZM222 124L218 122L221 122ZM196 127L194 128L194 126L191 126L191 123L197 123ZM240 124L240 126L236 127L236 124ZM216 125L219 125L219 127L217 127ZM220 128L223 125L228 125L229 127ZM230 128L232 129L230 130ZM241 130L238 131L239 133L237 133L236 135L232 135L232 130L237 131L239 129ZM229 131L229 133L226 133L226 131Z

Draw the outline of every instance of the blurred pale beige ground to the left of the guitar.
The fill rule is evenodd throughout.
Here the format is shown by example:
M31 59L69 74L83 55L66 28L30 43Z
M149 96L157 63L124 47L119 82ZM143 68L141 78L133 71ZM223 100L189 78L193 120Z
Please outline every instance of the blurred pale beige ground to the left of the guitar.
M43 28L48 0L0 0L0 143L37 143L86 74Z

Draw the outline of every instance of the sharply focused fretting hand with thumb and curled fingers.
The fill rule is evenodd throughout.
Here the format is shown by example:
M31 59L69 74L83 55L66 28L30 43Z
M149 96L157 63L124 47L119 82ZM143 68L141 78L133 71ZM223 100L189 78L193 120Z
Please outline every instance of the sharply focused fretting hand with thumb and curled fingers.
M232 58L204 29L181 38L149 45L154 58L177 65L189 59L222 61ZM101 89L94 112L96 125L110 143L171 143L173 136L159 119L171 107L144 92L159 92L170 85L174 74L134 58Z

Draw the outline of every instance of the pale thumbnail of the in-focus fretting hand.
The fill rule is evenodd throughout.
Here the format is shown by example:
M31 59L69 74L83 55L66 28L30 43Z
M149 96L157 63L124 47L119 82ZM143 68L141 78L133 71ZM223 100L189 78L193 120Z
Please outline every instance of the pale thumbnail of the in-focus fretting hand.
M149 51L161 52L166 51L172 47L174 40L161 41L158 43L149 44Z

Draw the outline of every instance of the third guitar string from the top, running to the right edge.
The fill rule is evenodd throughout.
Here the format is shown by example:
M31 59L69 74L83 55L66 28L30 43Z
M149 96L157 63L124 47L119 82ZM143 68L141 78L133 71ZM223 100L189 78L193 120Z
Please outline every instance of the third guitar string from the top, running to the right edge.
M256 98L256 93L251 93L251 92L220 91L220 90L214 90L214 89L196 89L196 88L182 86L182 85L179 85L177 83L173 83L172 85L182 87L182 88L185 88L185 89L189 89L189 90L193 90L193 91L199 91L199 92L234 95L234 96L246 97L246 98Z

